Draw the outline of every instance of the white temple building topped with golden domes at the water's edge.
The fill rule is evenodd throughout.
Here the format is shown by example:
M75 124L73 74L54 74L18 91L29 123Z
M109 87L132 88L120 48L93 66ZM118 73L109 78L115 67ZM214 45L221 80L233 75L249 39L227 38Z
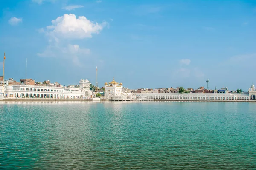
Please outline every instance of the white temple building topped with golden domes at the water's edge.
M105 99L107 100L133 100L135 94L131 94L127 88L124 88L122 83L118 83L113 78L112 82L105 82Z

